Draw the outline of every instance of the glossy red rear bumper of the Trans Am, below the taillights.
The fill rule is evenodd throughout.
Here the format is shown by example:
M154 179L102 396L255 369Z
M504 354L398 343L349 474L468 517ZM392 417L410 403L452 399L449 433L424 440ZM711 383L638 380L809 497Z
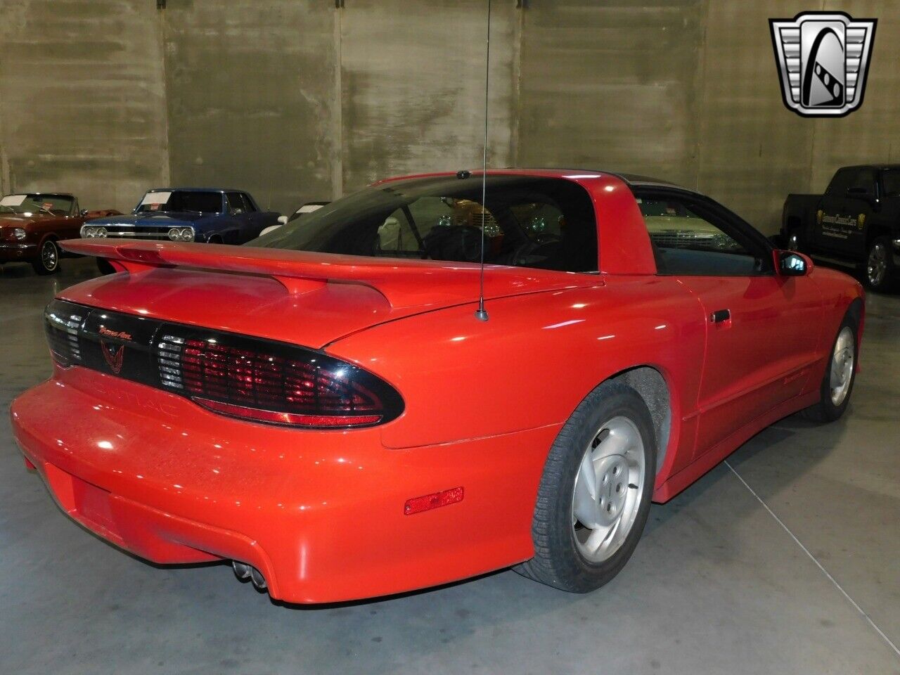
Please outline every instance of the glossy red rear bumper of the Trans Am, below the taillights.
M387 450L377 428L224 419L79 367L58 369L11 413L26 460L99 536L155 563L250 563L273 598L307 603L527 560L537 483L558 431ZM462 502L403 515L405 500L457 486Z

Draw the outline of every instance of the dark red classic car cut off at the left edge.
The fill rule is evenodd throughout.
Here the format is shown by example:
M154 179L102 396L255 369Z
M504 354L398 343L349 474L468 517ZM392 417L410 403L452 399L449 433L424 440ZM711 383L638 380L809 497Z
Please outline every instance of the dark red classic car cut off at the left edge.
M81 211L67 193L15 193L0 197L0 265L31 263L39 275L59 269L60 239L76 238L85 220L120 211Z

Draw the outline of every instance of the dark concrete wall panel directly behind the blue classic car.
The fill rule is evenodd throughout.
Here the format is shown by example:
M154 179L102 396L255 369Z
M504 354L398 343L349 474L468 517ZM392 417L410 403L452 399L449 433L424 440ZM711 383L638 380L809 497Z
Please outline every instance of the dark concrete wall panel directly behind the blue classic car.
M170 0L157 14L173 184L245 189L277 211L329 199L334 4Z

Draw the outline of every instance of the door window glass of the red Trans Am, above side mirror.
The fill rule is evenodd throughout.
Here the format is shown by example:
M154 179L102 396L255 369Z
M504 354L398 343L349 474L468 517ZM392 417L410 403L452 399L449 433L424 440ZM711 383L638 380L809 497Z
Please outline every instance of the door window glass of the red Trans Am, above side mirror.
M638 198L657 270L666 275L759 275L761 257L725 232L725 223L678 198Z

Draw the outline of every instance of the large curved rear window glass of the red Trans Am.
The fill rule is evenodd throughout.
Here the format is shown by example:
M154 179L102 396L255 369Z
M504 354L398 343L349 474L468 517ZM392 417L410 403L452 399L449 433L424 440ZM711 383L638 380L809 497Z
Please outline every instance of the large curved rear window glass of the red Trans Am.
M248 246L355 256L424 258L597 270L590 195L561 178L491 175L374 185L254 239Z

